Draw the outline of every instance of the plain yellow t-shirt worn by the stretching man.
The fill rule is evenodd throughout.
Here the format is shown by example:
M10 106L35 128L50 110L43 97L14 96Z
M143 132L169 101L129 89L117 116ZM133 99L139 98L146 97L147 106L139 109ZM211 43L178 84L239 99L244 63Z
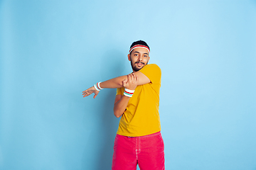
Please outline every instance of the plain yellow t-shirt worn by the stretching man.
M161 69L156 64L147 64L139 72L151 82L136 87L120 119L118 135L138 137L161 130L159 118ZM117 95L119 94L124 94L124 87L117 89Z

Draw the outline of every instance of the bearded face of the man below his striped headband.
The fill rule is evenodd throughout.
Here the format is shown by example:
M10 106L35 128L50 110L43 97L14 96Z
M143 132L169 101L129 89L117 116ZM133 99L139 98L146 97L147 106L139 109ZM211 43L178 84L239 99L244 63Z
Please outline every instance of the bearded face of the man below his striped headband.
M131 61L132 70L138 72L149 62L149 51L144 47L137 47L128 55L128 60Z

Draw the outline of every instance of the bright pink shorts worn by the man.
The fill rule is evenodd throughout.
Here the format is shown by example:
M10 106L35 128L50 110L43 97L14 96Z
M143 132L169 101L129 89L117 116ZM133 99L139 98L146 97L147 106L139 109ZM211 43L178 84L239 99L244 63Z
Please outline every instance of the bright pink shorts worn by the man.
M112 170L164 170L164 141L161 132L142 137L117 135Z

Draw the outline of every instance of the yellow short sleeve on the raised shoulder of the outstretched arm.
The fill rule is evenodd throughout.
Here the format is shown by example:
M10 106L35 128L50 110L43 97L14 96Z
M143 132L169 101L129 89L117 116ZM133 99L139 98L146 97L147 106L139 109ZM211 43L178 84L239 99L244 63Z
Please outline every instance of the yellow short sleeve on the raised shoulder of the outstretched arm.
M156 64L147 64L139 72L149 78L152 84L161 84L161 69Z

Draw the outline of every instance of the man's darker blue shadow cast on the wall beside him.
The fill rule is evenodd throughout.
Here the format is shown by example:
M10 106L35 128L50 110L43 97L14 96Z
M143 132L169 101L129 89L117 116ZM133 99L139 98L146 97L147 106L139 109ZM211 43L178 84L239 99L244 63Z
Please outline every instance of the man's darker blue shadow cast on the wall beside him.
M102 57L100 64L100 74L102 81L122 76L124 71L124 61L126 55L117 50L110 50ZM93 113L88 115L93 123L90 127L92 132L88 136L88 142L85 144L85 151L82 156L82 169L111 169L112 155L114 146L114 137L117 132L119 118L113 114L114 98L116 89L105 89L100 91L100 95L95 106L89 106ZM100 98L99 98L100 97ZM97 103L97 106L96 106ZM90 122L91 120L86 120Z

